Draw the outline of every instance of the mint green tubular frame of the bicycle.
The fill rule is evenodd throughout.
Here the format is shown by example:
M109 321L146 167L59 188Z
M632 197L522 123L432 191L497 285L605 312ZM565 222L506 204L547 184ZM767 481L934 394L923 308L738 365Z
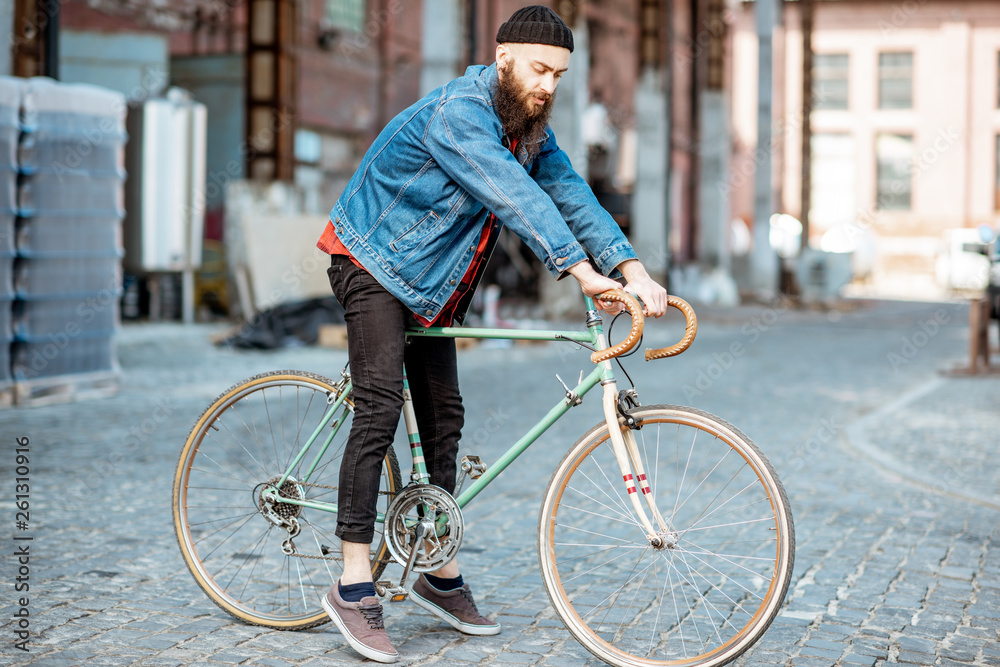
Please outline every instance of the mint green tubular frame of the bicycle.
M535 341L574 341L577 343L585 343L591 347L595 347L600 341L604 339L604 328L602 320L600 317L596 316L596 310L594 307L594 301L590 297L586 298L587 305L587 330L586 331L536 331L531 329L487 329L487 328L466 328L466 327L430 327L426 329L410 329L406 332L407 337L424 337L424 338L479 338L479 339L497 339L497 340L535 340ZM562 417L566 412L569 411L575 405L578 405L581 399L593 389L597 384L605 381L614 381L614 372L611 368L611 364L608 362L602 362L596 365L593 371L589 375L584 377L579 384L570 389L566 396L559 403L554 405L548 413L542 417L538 423L531 427L527 433L525 433L520 440L515 442L511 447L504 452L500 458L490 465L486 472L483 473L478 479L473 481L473 483L456 498L456 502L459 507L465 507L473 498L479 495L480 491L486 488L490 482L492 482L500 473L507 469L507 467L514 462L517 457L524 453L528 447L530 447L538 438L545 433L550 426L552 426L560 417ZM300 481L308 482L310 476L319 465L320 460L322 460L323 455L326 453L333 439L337 436L340 428L343 426L343 420L338 420L334 423L334 418L340 412L343 407L344 400L351 392L351 383L346 381L343 385L338 385L338 394L336 398L331 395L332 402L330 407L327 409L326 413L323 415L323 419L320 420L319 425L313 431L309 439L302 445L295 459L288 466L285 474L281 477L281 480L277 484L271 486L266 491L264 491L264 496L270 496L274 502L288 503L291 505L302 505L303 507L309 507L315 510L320 510L324 512L336 512L336 503L328 503L315 500L298 500L295 498L278 498L277 489L288 479L291 471L294 470L299 463L305 458L307 452L312 448L313 443L319 438L320 433L324 428L333 423L332 432L326 437L320 450L316 453L306 470L305 476L302 477ZM404 397L404 418L409 422L412 419L412 405L410 403L410 389L409 384L404 376L403 378L403 397ZM416 424L407 423L407 433L409 433L410 438L410 452L413 457L413 481L425 484L430 480L430 474L427 472L427 466L424 462L423 449L420 445L419 435L417 433ZM384 522L384 515L379 513L376 521Z

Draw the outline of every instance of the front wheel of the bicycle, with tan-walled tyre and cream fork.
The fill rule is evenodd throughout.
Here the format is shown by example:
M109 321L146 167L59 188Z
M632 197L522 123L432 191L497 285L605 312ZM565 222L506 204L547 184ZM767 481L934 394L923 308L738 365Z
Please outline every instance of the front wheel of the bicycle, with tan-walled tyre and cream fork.
M672 405L632 414L675 545L650 545L600 422L545 492L545 589L570 633L608 664L725 665L760 639L784 601L795 552L788 498L760 449L718 417Z

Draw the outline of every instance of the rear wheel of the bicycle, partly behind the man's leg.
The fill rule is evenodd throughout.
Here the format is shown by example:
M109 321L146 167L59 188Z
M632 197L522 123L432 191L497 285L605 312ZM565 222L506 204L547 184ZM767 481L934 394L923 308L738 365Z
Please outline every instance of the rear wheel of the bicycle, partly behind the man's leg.
M297 551L307 555L288 556L281 543L289 533L265 518L260 491L265 483L276 483L288 468L320 423L327 396L333 391L330 380L314 373L255 375L212 402L181 450L174 475L173 515L184 561L209 598L246 623L301 630L330 620L320 599L337 579L342 560L334 564L316 557L323 555L323 546L329 547L328 554L334 558L340 554L340 540L333 533L336 514L279 503L279 514L297 514L301 527L295 537ZM336 490L331 487L337 484L339 460L350 431L350 396L345 406L343 417L334 417L345 423L310 478L311 483L326 486L297 485L296 491L289 486L294 482L286 482L283 491L336 501ZM323 438L317 438L314 451ZM293 477L313 456L303 458ZM382 467L380 511L385 511L401 487L399 463L390 447ZM376 524L372 549L376 580L390 560L380 529L381 524Z

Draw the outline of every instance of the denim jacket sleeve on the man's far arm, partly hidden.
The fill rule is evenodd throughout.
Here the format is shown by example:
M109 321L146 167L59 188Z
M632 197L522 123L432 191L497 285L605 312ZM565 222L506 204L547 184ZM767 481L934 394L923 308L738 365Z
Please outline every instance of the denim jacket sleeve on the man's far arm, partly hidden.
M569 156L556 144L551 130L535 159L531 176L555 203L573 236L594 258L601 273L617 276L616 266L636 258L621 227L598 203L590 185L573 169Z

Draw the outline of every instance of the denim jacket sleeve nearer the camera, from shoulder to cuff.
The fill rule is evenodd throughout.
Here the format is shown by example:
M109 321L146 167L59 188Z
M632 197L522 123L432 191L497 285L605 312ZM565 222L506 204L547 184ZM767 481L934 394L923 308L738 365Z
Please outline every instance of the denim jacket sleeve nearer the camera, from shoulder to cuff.
M495 118L479 98L452 98L427 124L424 144L455 182L521 237L558 277L587 255L550 196L500 143Z

